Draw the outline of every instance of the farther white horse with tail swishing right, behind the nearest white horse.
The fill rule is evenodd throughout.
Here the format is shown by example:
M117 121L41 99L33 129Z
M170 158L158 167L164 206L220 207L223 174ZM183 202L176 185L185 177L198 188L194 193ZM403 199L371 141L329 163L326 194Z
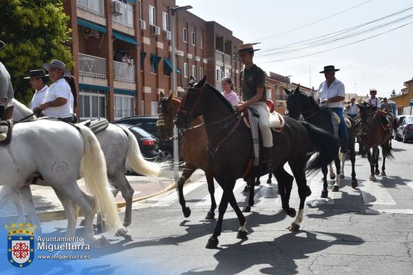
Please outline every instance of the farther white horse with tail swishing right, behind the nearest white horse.
M28 107L25 107L25 105L15 99L13 99L10 104L14 104L14 121L22 120L23 118L27 118L29 115L33 114L32 110L28 109ZM26 120L34 120L35 118L36 117L32 115ZM142 157L142 153L140 153L139 144L134 135L129 130L121 129L120 126L117 126L116 124L109 124L107 129L97 133L96 137L100 143L100 147L103 150L103 155L105 155L107 177L114 188L114 196L116 197L120 191L125 199L125 219L123 220L123 225L129 226L131 223L131 209L134 189L125 177L125 164L131 167L136 173L147 177L160 176L162 169L166 168L168 164L157 164L144 159ZM23 202L26 203L28 214L30 215L32 222L36 221L36 223L40 224L34 210L30 186L21 188L20 195L21 198L19 194L13 196L14 202L17 206L17 212L19 214L19 220L24 221L25 219L21 208L21 199L23 199ZM59 197L59 194L56 195ZM76 212L77 214L78 208L76 205L70 201L67 201L66 197L59 197L59 199L63 205L66 204L65 209L67 208L70 212ZM98 216L98 228L103 230L104 226L100 223L100 221L101 219Z

